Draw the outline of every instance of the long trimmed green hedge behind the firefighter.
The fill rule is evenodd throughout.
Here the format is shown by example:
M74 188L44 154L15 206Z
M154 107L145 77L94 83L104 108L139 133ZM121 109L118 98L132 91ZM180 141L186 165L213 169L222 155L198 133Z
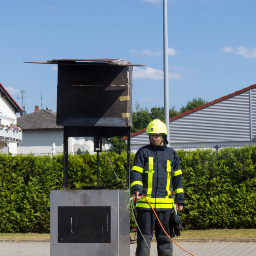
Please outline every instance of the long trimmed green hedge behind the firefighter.
M177 151L185 229L256 228L256 146ZM131 166L134 154L131 154ZM111 164L109 163L111 162ZM126 180L126 152L99 155L99 183ZM96 155L69 156L69 188L96 186ZM49 232L49 192L63 187L63 155L0 154L0 233ZM111 189L124 189L122 185ZM131 215L131 228L134 228Z

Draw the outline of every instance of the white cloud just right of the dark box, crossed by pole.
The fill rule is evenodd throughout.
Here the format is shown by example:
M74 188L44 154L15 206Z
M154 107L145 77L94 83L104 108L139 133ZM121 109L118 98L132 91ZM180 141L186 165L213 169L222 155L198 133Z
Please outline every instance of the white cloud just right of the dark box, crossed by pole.
M169 79L181 79L183 76L178 73L169 73ZM163 79L163 70L157 70L152 67L146 67L145 69L134 67L134 78L143 79Z

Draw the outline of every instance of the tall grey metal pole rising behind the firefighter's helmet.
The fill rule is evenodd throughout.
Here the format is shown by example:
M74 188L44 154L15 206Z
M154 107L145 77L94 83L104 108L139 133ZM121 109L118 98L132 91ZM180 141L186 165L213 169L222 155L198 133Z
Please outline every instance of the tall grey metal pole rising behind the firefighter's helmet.
M164 88L164 122L167 128L167 140L170 140L169 131L169 81L168 81L168 30L167 30L167 0L163 0L163 88ZM168 144L170 146L170 144Z

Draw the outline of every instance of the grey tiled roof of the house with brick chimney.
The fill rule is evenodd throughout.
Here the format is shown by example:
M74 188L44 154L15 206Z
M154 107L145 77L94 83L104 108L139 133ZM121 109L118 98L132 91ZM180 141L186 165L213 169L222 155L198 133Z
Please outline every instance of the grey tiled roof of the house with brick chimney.
M40 109L18 117L17 124L20 125L23 130L63 129L63 126L56 125L56 113L46 109Z

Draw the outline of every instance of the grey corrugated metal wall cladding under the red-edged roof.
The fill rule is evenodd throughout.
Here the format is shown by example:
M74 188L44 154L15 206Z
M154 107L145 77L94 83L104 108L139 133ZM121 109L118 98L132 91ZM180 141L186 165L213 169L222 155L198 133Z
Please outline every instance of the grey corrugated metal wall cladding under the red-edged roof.
M256 140L256 88L251 90L251 122ZM171 143L250 141L250 91L224 99L170 122ZM148 135L131 138L133 144L148 144Z

